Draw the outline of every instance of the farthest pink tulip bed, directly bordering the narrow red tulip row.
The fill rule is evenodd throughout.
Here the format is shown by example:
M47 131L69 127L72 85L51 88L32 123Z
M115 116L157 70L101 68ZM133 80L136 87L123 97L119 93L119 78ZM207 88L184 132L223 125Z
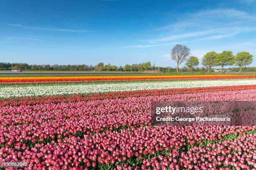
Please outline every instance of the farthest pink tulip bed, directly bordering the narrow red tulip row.
M105 130L120 130L130 126L149 125L152 100L228 100L239 96L243 100L255 100L256 90L204 92L183 95L131 97L126 99L97 100L90 102L51 103L34 106L0 107L3 133L20 136L36 136L40 140L58 138L69 133L89 134ZM236 100L237 98L233 98ZM7 128L8 127L8 128ZM27 139L26 139L27 140Z

